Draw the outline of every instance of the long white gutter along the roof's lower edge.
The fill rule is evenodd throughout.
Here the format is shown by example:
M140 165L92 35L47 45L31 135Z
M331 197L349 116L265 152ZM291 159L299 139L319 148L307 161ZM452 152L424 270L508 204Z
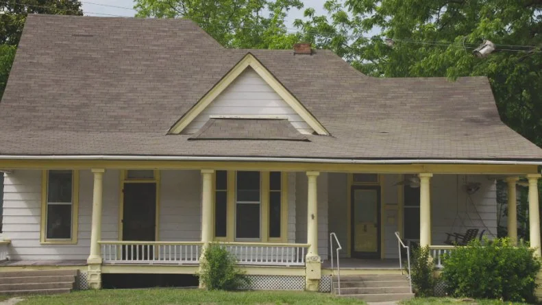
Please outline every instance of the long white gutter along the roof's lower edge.
M221 162L302 162L332 164L508 164L542 165L538 161L469 160L469 159L330 159L330 158L276 158L276 157L207 157L207 156L0 156L0 160L108 160L108 161L221 161Z

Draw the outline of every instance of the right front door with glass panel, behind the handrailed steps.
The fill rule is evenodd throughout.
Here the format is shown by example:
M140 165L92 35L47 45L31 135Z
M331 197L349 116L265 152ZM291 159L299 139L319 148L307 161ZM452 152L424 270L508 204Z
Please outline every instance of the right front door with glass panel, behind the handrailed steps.
M352 186L352 257L380 258L380 186Z

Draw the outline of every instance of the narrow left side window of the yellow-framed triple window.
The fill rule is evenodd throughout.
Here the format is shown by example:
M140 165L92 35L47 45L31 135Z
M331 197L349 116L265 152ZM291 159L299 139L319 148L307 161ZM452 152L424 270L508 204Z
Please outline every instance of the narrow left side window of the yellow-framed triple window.
M214 182L214 236L227 232L227 171L217 171Z

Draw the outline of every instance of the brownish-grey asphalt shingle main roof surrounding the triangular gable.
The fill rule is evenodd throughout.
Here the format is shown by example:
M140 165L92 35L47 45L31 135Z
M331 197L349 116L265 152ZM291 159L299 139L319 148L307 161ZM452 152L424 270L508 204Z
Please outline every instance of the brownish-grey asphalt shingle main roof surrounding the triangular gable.
M309 141L169 128L252 53L325 127ZM0 102L0 155L542 160L486 77L374 78L331 51L224 49L195 23L30 15Z

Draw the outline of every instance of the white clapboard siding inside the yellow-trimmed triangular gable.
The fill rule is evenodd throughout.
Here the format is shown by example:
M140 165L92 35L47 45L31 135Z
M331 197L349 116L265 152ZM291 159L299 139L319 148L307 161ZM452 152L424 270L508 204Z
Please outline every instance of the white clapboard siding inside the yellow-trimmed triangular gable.
M273 115L288 121L303 134L311 134L312 128L286 103L271 86L248 67L183 131L197 132L212 116Z

